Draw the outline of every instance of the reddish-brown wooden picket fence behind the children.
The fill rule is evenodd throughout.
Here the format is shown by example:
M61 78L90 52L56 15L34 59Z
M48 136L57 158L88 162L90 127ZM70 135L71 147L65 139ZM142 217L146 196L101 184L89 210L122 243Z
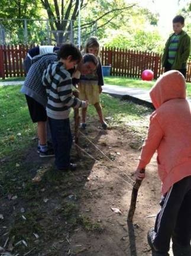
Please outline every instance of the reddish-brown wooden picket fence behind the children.
M28 49L32 46L0 46L0 77L25 76L23 60ZM126 76L130 78L141 78L145 69L154 72L157 79L163 68L161 68L161 55L153 52L141 52L118 48L102 48L101 60L103 66L111 65L111 75ZM191 82L191 62L187 65L187 82Z

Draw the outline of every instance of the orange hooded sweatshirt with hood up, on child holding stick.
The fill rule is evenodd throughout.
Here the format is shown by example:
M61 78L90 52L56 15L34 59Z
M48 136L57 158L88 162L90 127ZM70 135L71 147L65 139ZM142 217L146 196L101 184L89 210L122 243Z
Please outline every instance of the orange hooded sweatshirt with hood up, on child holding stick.
M162 194L177 181L191 175L191 112L182 73L169 71L158 78L150 97L151 114L138 168L145 168L157 151Z

